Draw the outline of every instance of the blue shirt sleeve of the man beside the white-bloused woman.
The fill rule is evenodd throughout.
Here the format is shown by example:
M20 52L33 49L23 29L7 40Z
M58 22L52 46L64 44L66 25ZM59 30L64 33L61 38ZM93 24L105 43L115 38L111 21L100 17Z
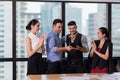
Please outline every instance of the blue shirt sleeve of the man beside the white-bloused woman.
M50 52L56 52L57 51L57 46L56 46L56 42L55 42L54 36L53 37L52 36L49 37L48 47L50 49Z

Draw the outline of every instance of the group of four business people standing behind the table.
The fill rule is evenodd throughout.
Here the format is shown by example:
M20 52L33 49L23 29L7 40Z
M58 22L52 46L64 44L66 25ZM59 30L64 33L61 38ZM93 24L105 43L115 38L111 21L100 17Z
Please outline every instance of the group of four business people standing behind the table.
M54 19L52 30L47 35L38 36L40 22L32 19L26 26L29 34L26 37L26 47L28 53L28 70L29 74L42 73L42 54L47 53L47 73L61 73L62 53L67 52L66 68L68 73L83 73L85 71L83 63L83 53L89 51L89 56L92 58L91 73L108 73L109 59L112 58L112 43L107 39L108 30L105 27L100 27L97 32L98 40L91 42L91 49L88 48L87 38L77 31L75 21L68 22L70 34L60 38L63 21ZM44 45L46 41L46 45ZM66 43L63 47L62 43ZM45 49L46 46L46 49Z

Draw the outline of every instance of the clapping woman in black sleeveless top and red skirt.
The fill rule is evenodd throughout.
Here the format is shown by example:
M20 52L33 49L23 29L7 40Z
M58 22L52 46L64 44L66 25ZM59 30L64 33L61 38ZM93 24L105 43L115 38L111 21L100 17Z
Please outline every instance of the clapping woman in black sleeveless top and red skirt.
M92 57L91 73L108 73L109 61L112 59L112 43L107 40L108 30L100 27L97 32L99 40L92 41L90 57Z

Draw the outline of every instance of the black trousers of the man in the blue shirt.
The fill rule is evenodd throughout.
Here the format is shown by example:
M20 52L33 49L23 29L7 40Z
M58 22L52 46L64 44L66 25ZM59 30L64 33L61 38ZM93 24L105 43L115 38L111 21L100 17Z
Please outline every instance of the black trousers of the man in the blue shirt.
M51 62L48 61L48 74L60 74L61 73L61 61Z

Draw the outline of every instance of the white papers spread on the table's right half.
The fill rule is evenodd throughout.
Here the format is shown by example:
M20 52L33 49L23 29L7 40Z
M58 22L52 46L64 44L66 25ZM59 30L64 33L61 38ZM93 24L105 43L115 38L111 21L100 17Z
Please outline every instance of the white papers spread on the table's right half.
M103 74L101 76L84 74L83 76L61 76L60 78L62 78L62 80L120 80L120 73Z

